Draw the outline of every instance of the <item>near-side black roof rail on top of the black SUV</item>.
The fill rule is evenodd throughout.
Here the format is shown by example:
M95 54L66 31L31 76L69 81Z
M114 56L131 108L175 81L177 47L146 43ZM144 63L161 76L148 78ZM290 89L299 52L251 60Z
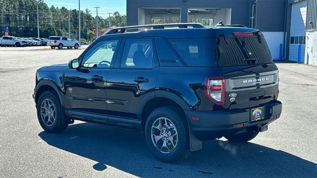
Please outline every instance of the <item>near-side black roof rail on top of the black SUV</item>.
M116 34L116 33L124 33L127 29L138 29L138 28L153 28L153 29L164 29L164 27L178 27L178 28L205 28L200 23L173 23L173 24L151 24L151 25L136 25L136 26L127 26L127 27L119 27L110 30L107 35L109 34Z

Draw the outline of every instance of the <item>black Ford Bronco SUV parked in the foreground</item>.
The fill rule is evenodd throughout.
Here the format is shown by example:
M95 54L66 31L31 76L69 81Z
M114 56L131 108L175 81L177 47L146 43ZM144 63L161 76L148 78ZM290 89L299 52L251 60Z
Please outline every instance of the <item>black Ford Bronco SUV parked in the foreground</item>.
M38 69L33 94L45 131L74 120L140 130L165 162L202 140L253 139L280 117L277 97L263 34L222 23L113 29L68 65Z

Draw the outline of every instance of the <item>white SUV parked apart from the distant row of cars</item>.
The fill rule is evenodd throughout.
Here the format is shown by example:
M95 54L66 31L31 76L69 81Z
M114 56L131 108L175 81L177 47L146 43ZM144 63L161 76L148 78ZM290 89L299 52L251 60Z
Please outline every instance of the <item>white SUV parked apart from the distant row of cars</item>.
M79 42L69 37L52 36L48 40L48 45L50 45L52 49L55 47L58 47L59 49L62 49L63 47L74 47L75 49L78 49Z

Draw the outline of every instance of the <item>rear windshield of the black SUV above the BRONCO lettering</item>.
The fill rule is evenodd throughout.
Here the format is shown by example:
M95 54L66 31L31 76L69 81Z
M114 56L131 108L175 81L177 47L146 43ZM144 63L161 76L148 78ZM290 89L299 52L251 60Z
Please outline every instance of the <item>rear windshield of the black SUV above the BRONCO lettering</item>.
M217 38L215 61L219 66L244 66L273 62L264 38L258 38L257 35L228 35Z

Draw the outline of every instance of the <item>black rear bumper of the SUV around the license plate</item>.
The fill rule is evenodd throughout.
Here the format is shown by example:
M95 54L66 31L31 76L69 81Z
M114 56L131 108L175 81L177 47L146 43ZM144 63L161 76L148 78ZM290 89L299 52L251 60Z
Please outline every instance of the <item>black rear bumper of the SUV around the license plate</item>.
M263 127L280 117L282 103L280 101L266 103L264 107L264 119L251 121L250 110L234 110L229 112L199 112L185 111L193 134L200 140L211 140L217 137L235 134L252 127ZM192 117L199 117L199 121L193 121ZM239 127L243 124L243 127Z

